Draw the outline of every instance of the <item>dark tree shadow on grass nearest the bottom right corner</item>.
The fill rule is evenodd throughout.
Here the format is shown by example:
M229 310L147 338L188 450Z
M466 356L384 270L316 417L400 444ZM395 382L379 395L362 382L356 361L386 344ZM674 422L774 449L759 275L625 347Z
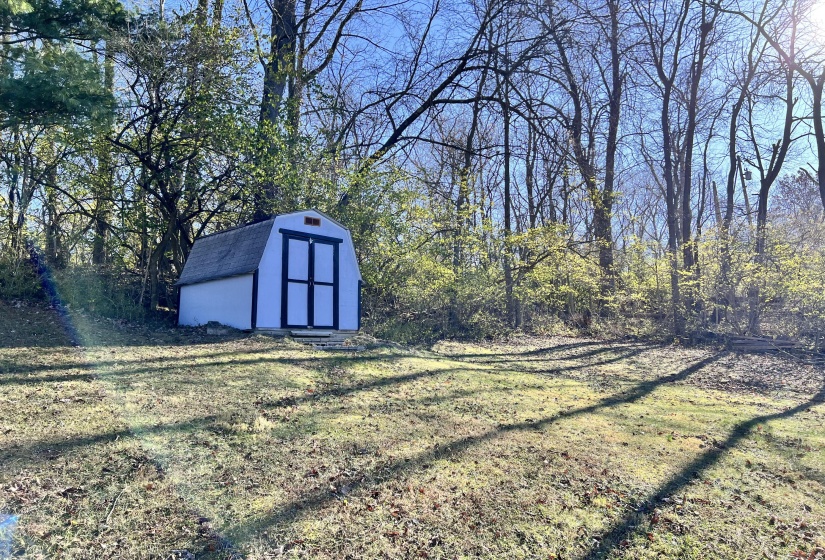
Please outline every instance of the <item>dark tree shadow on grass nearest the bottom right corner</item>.
M724 455L725 451L738 445L739 442L746 438L758 424L770 422L771 420L790 418L822 402L825 402L825 386L823 386L819 390L819 392L813 397L811 397L809 400L793 408L790 408L784 412L776 412L773 414L756 416L754 418L751 418L750 420L746 420L744 422L737 424L724 442L722 442L718 446L709 449L708 451L694 459L676 476L672 477L668 482L660 486L659 490L648 499L648 503L658 504L662 502L662 500L664 500L665 498L672 496L673 494L676 494L677 492L682 490L685 486L690 484L692 479L701 476L702 473L704 473L705 471L713 467L716 463L718 463ZM645 514L643 512L632 512L626 515L616 524L614 524L613 528L602 537L602 539L599 541L598 546L593 546L590 548L590 550L587 551L585 557L606 557L610 554L610 552L613 549L618 547L622 541L628 539L635 533L641 532L641 530L638 527L643 526L644 521Z

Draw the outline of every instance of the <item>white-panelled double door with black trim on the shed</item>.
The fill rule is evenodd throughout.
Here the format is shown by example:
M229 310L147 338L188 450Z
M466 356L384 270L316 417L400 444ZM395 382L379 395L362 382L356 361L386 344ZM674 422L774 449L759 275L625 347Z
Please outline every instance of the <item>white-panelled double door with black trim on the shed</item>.
M337 239L284 234L281 324L338 328Z

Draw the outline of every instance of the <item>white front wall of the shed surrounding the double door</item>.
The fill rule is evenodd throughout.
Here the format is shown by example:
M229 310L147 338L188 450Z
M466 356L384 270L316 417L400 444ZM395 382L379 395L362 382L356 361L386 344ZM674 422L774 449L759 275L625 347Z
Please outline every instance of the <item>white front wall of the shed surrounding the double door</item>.
M313 216L321 219L320 226L304 225L304 217ZM261 263L258 267L258 328L281 328L281 263L283 237L280 229L306 232L343 239L338 249L339 270L339 315L340 330L358 329L358 281L361 274L358 260L349 231L328 219L326 216L307 210L278 216L272 226ZM251 288L250 288L251 290ZM251 292L250 292L251 293Z

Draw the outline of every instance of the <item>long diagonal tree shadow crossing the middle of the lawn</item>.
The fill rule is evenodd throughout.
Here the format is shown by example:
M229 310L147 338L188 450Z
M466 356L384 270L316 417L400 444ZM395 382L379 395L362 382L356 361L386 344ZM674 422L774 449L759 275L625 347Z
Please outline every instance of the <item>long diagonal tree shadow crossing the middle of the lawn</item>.
M395 463L386 465L383 468L375 469L369 475L365 475L361 478L352 478L345 482L350 487L351 491L355 491L365 486L370 480L394 477L401 472L419 468L422 465L431 463L434 460L458 455L471 447L477 446L479 444L493 440L495 438L498 438L502 435L506 435L511 432L525 430L541 430L561 420L591 414L600 410L612 408L620 404L633 403L650 395L656 388L662 385L668 383L676 383L687 379L693 373L717 361L724 354L725 352L714 354L691 366L688 366L687 368L677 373L660 377L655 380L639 383L630 391L625 391L618 395L601 399L593 405L558 412L555 415L537 421L500 424L497 428L488 430L479 435L467 436L459 440L436 445L430 450L418 454L414 458L396 461ZM226 530L226 534L230 539L248 536L250 535L250 533L262 531L272 525L288 522L291 519L297 517L301 510L319 508L336 498L337 494L327 490L314 491L304 498L295 500L289 504L284 505L283 507L277 509L269 515L258 518L256 520L228 527Z

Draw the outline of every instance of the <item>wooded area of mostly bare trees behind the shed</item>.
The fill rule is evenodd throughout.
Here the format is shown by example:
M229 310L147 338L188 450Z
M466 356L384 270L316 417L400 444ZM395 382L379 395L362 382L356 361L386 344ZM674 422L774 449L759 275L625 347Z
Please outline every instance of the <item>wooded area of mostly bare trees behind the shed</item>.
M825 333L822 0L0 0L0 296L315 207L366 326Z

